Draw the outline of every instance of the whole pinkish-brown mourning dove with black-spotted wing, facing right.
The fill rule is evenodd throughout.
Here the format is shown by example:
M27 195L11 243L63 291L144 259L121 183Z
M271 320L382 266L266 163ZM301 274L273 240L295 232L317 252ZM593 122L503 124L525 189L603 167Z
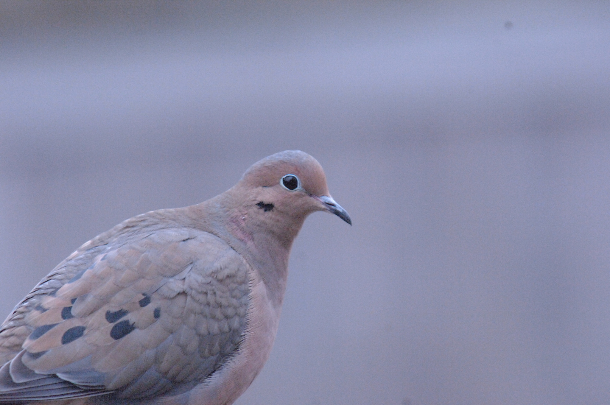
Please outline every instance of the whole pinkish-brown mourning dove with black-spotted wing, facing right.
M0 403L232 404L269 357L315 211L351 224L320 163L284 151L215 198L91 239L0 326Z

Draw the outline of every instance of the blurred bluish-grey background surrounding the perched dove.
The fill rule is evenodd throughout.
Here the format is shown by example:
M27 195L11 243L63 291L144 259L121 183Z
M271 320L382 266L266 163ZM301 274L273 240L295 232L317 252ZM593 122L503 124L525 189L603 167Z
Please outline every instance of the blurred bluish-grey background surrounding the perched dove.
M284 149L354 226L237 404L610 403L608 1L1 1L0 312Z

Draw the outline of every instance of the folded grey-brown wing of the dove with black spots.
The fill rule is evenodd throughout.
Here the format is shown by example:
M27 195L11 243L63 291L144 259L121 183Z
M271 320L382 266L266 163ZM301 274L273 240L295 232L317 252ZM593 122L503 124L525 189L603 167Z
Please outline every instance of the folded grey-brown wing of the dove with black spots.
M146 398L195 385L239 346L248 269L195 229L85 244L0 326L0 402Z

